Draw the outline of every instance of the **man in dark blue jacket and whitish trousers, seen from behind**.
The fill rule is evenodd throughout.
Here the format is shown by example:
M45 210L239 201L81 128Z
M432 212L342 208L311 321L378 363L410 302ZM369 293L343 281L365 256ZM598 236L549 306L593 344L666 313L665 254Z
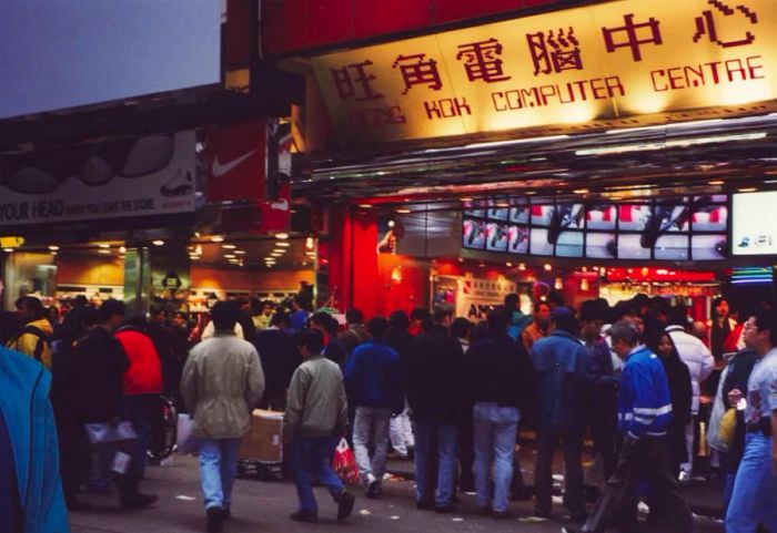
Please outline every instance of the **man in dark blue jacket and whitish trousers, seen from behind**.
M345 390L356 407L353 423L353 452L367 498L377 498L386 467L389 423L404 410L400 355L385 342L389 320L373 318L367 324L372 339L353 350L345 363ZM370 460L370 438L375 453Z

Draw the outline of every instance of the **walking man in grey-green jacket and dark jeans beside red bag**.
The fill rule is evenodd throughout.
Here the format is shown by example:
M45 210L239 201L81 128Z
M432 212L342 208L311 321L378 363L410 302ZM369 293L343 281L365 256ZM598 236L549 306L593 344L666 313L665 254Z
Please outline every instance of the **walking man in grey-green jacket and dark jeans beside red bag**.
M291 519L299 522L319 520L314 479L329 489L337 503L337 520L351 515L355 501L332 470L332 455L345 434L349 417L343 373L335 362L322 356L323 345L321 331L302 334L304 362L292 377L283 417L283 434L291 441L291 467L300 499L300 509Z

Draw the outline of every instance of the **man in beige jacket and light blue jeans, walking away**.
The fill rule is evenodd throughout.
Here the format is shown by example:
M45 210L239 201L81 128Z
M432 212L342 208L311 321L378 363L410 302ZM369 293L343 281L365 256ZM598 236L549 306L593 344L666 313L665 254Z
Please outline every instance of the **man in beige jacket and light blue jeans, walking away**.
M238 451L251 430L251 412L264 393L264 373L251 342L238 338L238 309L218 303L215 335L195 346L183 368L181 394L192 413L192 434L200 438L200 480L209 533L222 531L231 514Z

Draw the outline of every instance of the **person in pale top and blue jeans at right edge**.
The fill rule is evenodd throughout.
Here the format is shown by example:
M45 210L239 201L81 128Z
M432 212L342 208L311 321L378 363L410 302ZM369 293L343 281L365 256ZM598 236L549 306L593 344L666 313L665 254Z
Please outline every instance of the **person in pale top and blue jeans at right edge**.
M726 514L728 533L751 533L758 524L777 531L777 315L759 310L745 322L745 344L758 355L747 381L745 455ZM728 393L736 406L741 391Z

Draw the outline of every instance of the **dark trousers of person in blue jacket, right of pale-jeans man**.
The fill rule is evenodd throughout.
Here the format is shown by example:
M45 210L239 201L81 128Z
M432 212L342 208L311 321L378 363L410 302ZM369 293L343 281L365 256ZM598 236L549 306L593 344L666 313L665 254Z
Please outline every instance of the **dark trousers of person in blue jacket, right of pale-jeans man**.
M585 513L585 494L583 492L583 430L581 428L549 429L537 432L537 462L534 471L534 490L537 496L536 512L551 514L553 505L553 457L562 440L564 450L564 469L566 470L566 492L564 503L573 516Z

